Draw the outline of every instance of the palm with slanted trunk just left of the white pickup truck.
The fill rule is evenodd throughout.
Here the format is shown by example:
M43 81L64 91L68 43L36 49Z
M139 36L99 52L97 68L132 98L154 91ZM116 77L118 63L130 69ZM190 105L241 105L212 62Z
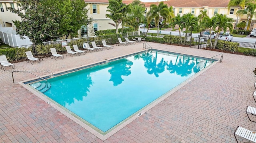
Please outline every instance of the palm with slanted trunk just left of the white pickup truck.
M213 29L216 29L216 27L218 27L218 30L216 33L216 39L215 39L214 46L213 46L213 48L215 49L218 38L219 38L220 31L223 30L225 33L228 28L229 28L230 32L232 31L233 19L228 18L226 14L215 14L214 17L212 18L212 21L214 22Z

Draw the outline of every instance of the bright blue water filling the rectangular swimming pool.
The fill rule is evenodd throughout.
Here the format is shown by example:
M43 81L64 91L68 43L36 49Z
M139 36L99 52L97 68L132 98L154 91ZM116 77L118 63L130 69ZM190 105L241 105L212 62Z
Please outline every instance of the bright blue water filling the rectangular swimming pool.
M52 86L44 94L106 132L210 63L198 57L145 52L49 78Z

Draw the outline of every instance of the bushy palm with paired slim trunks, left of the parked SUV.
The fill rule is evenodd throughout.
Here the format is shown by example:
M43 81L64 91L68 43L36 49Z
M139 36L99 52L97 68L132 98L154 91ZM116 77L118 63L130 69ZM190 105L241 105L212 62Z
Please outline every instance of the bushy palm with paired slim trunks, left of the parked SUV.
M182 22L184 23L184 27L186 28L186 34L185 34L185 38L184 38L184 42L183 44L185 45L186 43L186 39L187 39L187 35L188 35L188 30L191 29L191 37L190 37L190 46L191 46L191 40L192 40L192 30L196 29L198 26L198 19L194 14L188 13L188 14L184 14L182 16Z

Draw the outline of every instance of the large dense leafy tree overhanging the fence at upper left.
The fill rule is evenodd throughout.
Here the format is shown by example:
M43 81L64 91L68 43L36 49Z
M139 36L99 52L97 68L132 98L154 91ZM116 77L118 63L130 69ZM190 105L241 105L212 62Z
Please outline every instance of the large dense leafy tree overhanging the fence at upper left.
M8 8L21 18L21 21L13 21L16 32L21 38L28 36L34 44L68 34L77 35L78 29L91 20L86 15L88 10L82 0L17 1L19 10Z

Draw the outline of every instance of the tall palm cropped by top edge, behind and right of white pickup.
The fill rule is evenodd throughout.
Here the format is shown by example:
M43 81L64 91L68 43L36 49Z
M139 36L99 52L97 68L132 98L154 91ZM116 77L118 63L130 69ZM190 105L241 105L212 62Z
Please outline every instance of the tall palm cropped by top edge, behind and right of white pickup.
M238 6L238 11L244 10L248 2L255 2L255 0L230 0L230 2L228 3L228 8L230 8L231 6ZM235 29L236 29L236 25L238 24L238 20L239 20L239 15L237 14Z

